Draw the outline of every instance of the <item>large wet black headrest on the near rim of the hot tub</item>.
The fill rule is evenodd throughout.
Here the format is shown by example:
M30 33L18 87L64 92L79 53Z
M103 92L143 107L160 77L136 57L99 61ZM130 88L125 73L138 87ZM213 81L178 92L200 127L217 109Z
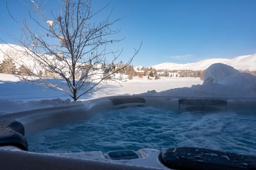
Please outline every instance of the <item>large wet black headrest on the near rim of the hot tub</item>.
M256 169L256 156L203 148L172 148L162 151L159 161L172 169L242 170Z

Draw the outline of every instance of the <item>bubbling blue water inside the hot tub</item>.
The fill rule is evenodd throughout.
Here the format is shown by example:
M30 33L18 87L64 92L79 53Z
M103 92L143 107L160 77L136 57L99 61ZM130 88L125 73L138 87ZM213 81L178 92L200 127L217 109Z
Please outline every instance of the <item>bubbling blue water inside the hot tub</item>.
M34 133L27 140L29 151L48 153L200 147L255 155L255 123L255 113L249 112L126 107Z

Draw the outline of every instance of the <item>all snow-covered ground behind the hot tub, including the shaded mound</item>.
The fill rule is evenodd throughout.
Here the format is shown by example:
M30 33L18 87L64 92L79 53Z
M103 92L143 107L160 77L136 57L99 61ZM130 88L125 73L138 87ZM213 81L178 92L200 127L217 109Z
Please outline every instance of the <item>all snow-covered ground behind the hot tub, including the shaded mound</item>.
M63 92L20 82L11 74L0 74L0 91L2 114L75 103ZM122 86L117 83L102 83L94 92L83 96L80 100L134 94L256 98L256 77L249 73L240 73L225 64L213 64L206 70L204 81L199 78L162 77L159 80L147 80L147 78L135 77L133 80L122 82Z

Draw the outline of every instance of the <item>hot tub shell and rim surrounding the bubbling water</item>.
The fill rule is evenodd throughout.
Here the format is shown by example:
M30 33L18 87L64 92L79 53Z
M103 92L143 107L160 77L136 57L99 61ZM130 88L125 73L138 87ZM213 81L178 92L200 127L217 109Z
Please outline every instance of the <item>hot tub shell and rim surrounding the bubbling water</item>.
M202 151L199 149L199 156L197 150L190 146L179 147L179 149L164 149L159 150L155 148L141 148L138 150L123 149L123 150L110 150L110 151L84 151L84 152L62 152L62 153L39 153L26 151L29 148L26 146L26 136L34 134L38 131L51 128L53 126L61 124L70 124L81 120L90 119L95 113L110 111L117 108L132 107L136 109L138 106L144 107L161 107L164 109L172 109L175 112L252 112L256 113L256 100L254 99L217 99L217 98L169 98L169 97L150 97L150 96L125 96L125 97L106 97L100 99L94 99L85 101L82 104L73 106L53 107L45 109L37 109L33 111L10 113L1 115L1 120L8 122L16 120L20 122L25 128L25 137L22 137L22 130L20 125L6 125L8 130L15 131L21 134L21 137L12 137L11 142L2 142L1 162L3 167L6 168L20 168L24 169L35 169L35 167L46 169L169 169L170 164L170 153L177 153L185 159L184 152L187 151L187 156L190 157L192 152L194 156L192 159L185 162L184 164L189 165L197 163L200 167L204 167L202 163L207 163L209 160L204 159L207 156L217 158L218 155L222 155L220 159L214 159L215 162L224 162L222 159L226 159L229 162L230 159L239 159L243 162L239 164L240 168L255 167L255 163L246 160L255 160L255 155L249 155L246 159L242 159L241 155L225 155L225 152L206 150ZM255 118L256 120L256 118ZM8 123L7 123L8 124ZM19 128L17 128L19 127ZM202 127L201 127L202 128ZM3 124L3 129L6 129ZM14 140L15 138L15 140ZM17 142L18 141L18 142ZM15 142L18 145L15 145ZM7 144L6 144L7 143ZM256 143L255 149L256 149ZM198 148L197 148L198 149ZM178 153L179 152L179 153ZM190 152L190 153L189 153ZM167 154L166 154L167 153ZM188 155L190 154L190 155ZM200 155L201 154L201 155ZM204 156L202 156L204 154ZM217 156L216 156L217 155ZM166 157L167 156L167 157ZM171 155L172 156L172 155ZM167 158L167 159L166 159ZM194 160L196 158L196 160ZM250 159L249 159L250 158ZM212 159L211 159L212 160ZM177 160L172 160L177 162ZM179 160L180 161L180 160ZM15 162L15 163L14 163ZM238 161L240 163L240 161ZM238 164L237 163L237 164ZM177 164L177 163L175 163ZM224 163L226 165L226 162ZM209 165L207 163L207 165ZM222 167L225 167L221 164ZM231 164L227 164L230 165ZM233 165L232 165L233 166ZM234 165L234 167L237 165ZM214 166L212 166L214 167ZM177 167L173 167L177 168ZM187 168L187 167L183 167ZM208 167L207 167L208 168Z

